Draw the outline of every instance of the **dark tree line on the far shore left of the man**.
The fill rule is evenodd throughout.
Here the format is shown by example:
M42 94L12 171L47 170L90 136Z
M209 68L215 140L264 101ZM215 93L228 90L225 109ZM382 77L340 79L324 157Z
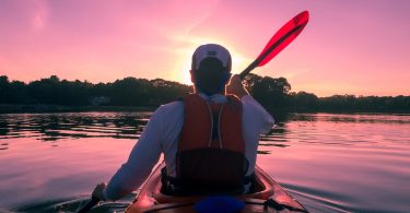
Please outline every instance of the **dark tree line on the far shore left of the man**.
M0 76L0 104L85 106L104 97L106 106L159 106L190 92L188 85L162 79L125 78L113 83L60 80L56 75L30 82Z

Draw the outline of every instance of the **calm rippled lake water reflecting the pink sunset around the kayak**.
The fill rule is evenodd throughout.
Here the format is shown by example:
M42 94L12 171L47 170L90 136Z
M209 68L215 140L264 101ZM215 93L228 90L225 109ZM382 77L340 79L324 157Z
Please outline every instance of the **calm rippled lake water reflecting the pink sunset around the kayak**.
M0 115L0 212L75 212L127 159L150 115ZM410 115L291 114L258 152L312 212L410 212ZM134 194L96 211L121 212Z

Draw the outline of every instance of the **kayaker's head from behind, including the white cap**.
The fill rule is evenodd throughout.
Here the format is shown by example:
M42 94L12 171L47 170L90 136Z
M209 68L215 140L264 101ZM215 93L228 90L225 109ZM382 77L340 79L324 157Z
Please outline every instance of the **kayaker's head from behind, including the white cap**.
M199 46L192 55L191 81L207 95L223 93L231 78L231 54L215 44Z

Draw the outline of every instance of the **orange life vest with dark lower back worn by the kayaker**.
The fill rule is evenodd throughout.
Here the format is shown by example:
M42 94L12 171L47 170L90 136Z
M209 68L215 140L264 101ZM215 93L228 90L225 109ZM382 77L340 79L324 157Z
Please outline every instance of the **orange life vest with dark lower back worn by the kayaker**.
M180 188L198 193L241 193L248 167L242 131L242 102L223 104L197 94L184 97L184 126L176 156Z

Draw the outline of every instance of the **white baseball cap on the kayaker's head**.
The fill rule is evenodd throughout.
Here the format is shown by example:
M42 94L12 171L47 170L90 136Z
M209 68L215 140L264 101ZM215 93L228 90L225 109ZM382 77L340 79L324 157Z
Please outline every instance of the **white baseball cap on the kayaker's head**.
M232 69L231 54L226 48L216 44L207 44L199 46L192 55L192 70L198 70L201 61L206 58L216 58L222 62L222 66L227 72Z

